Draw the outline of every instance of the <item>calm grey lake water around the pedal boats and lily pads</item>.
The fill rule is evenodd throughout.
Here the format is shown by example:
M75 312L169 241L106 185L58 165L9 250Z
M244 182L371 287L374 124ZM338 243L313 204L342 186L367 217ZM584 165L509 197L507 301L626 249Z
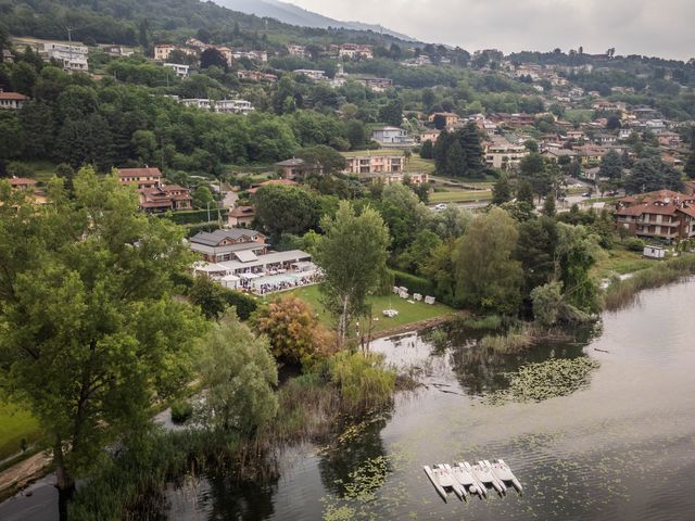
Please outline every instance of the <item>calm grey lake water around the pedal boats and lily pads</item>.
M287 450L277 483L239 488L225 476L187 480L169 492L163 518L695 519L693 310L690 280L642 293L634 306L604 314L571 342L522 355L481 354L475 340L456 333L379 340L374 350L420 368L426 386L400 395L390 412L331 447ZM508 385L505 373L578 357L599 365L569 395L490 399ZM511 466L523 495L468 504L451 495L444 504L422 472L422 465L494 458ZM0 519L17 512L16 504L7 508L0 505Z

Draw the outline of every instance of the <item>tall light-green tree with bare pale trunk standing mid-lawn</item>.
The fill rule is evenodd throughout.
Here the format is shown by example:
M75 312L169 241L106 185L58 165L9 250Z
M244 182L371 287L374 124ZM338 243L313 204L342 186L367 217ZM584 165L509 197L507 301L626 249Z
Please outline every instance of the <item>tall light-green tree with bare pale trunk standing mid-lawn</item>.
M316 245L315 260L325 274L321 292L337 317L339 346L345 341L353 317L366 310L366 298L386 274L389 230L381 216L367 206L355 214L341 201L334 218L321 219L326 234Z

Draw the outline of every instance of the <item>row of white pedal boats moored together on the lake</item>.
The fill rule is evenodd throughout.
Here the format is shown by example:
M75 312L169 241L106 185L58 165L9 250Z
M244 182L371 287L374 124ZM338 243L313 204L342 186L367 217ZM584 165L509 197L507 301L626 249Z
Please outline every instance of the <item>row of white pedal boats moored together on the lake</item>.
M462 501L467 501L472 496L483 499L491 491L496 491L500 497L504 497L510 487L519 494L523 491L521 482L503 459L481 459L472 465L468 461L459 461L453 466L434 463L426 465L422 469L444 503L450 493L454 493Z

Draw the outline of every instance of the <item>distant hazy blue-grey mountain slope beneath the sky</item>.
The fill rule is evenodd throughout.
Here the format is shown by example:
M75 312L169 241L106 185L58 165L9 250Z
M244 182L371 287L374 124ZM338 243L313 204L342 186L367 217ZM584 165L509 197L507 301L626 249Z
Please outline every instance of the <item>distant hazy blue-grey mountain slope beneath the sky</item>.
M343 22L328 16L324 16L312 11L307 11L298 5L279 0L216 0L217 4L233 11L255 14L256 16L267 16L279 20L286 24L299 25L302 27L328 27L344 28L353 30L371 30L374 33L390 35L402 40L415 41L414 38L393 31L386 27L362 22Z

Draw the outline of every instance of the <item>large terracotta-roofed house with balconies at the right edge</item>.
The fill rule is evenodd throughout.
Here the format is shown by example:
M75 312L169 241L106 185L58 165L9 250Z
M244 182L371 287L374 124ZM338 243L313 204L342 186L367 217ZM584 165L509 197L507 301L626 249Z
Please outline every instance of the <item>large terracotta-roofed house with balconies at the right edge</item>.
M695 237L695 196L671 190L630 195L618 201L616 223L647 239Z

